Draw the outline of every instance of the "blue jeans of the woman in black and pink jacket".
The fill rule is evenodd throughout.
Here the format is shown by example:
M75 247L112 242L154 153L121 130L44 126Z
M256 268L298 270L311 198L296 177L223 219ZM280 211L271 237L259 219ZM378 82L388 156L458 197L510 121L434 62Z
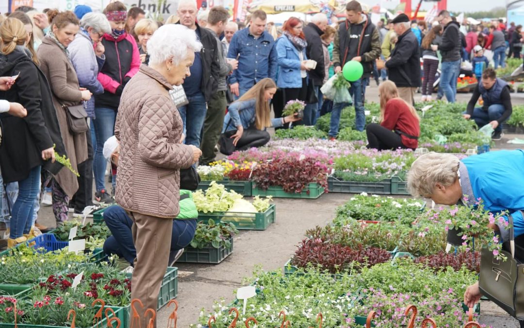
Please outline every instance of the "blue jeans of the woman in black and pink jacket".
M93 159L93 173L95 175L96 192L105 189L105 170L107 160L104 158L104 143L115 134L116 110L106 107L95 107L96 119L93 120L95 126L96 147Z

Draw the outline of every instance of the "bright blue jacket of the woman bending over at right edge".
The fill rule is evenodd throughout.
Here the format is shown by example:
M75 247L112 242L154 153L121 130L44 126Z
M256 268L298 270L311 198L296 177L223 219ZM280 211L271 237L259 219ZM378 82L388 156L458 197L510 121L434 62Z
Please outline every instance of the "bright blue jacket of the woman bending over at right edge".
M519 211L524 209L524 151L487 152L461 162L467 169L467 174L460 171L462 192L468 196L468 204L473 206L481 198L490 212L507 211L514 219L515 237L524 234L524 218ZM498 226L502 239L508 240L508 230Z

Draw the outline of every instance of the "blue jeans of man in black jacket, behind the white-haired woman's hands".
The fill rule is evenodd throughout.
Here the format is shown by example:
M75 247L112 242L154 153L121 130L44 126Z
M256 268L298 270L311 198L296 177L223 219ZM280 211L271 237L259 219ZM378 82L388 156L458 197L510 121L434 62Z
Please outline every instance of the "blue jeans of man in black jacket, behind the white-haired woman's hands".
M208 111L202 93L188 96L189 104L178 109L184 123L185 144L200 147L202 126L204 126L205 113Z

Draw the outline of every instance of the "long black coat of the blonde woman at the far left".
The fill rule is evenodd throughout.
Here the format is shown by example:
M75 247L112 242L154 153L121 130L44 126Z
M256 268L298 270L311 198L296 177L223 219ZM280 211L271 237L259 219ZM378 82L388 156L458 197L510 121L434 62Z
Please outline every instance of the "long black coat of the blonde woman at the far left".
M27 109L25 118L7 113L0 114L2 144L0 167L4 183L21 181L29 171L39 165L57 174L62 165L43 161L41 152L56 145L55 151L65 154L57 113L46 77L23 47L17 46L9 55L0 55L0 76L20 73L15 84L7 91L0 91L0 99L18 102Z

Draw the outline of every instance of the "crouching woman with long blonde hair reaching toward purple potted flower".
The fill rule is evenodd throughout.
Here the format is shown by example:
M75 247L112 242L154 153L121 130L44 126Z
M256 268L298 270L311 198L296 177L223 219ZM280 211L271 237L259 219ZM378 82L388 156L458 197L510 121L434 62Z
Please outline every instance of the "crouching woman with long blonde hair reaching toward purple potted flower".
M233 139L236 150L261 147L270 139L266 128L276 128L300 120L297 115L269 118L269 100L273 99L275 92L277 92L275 82L265 78L229 106L222 133Z

